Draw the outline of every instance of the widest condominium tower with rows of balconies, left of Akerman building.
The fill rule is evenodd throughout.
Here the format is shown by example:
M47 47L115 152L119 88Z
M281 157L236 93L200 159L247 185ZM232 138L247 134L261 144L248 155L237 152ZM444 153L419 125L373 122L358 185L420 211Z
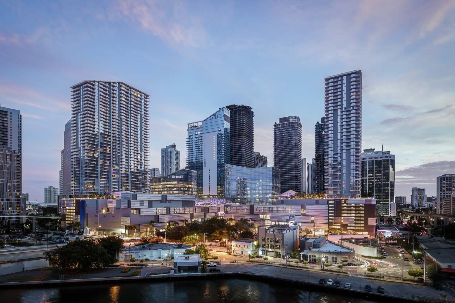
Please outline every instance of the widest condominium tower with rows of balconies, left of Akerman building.
M149 95L123 82L71 86L71 193L148 188Z

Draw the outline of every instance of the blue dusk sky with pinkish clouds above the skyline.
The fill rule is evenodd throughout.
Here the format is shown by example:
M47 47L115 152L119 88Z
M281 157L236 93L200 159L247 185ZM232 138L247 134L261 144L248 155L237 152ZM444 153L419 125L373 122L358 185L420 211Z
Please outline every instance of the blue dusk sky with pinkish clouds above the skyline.
M123 81L150 94L150 167L187 123L228 104L273 123L297 115L314 157L324 78L362 70L362 149L396 155L396 195L455 174L455 1L0 0L0 104L22 114L23 191L59 186L70 86Z

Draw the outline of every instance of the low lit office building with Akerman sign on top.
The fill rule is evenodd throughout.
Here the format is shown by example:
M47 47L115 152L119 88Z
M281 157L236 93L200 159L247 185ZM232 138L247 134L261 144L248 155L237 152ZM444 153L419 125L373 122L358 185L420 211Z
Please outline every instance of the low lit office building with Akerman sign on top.
M196 196L197 172L179 169L167 176L150 178L150 194L183 194Z

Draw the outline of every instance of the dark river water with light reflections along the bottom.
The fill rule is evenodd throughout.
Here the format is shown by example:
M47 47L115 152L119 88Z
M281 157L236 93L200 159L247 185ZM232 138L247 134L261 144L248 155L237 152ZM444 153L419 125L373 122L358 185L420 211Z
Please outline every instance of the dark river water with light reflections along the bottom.
M334 293L318 293L295 287L244 279L183 280L160 283L124 283L15 288L1 290L2 302L11 303L373 303Z

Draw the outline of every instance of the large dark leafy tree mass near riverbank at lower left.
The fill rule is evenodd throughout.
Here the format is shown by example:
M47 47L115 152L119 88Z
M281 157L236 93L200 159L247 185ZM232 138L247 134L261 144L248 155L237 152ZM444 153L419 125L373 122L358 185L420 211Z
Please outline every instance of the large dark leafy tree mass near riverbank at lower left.
M86 272L92 268L106 267L113 261L106 249L94 240L77 240L43 254L52 268L63 271Z

